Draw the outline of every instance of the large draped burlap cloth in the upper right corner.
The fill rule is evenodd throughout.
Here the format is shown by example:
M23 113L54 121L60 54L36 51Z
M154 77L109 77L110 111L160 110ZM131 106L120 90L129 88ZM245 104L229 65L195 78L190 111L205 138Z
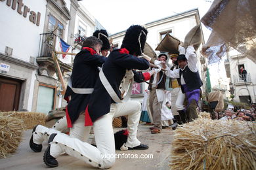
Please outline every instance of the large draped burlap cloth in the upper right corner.
M203 54L218 62L231 46L245 58L256 63L256 3L255 0L215 0L201 19L214 32L209 37ZM217 54L217 55L216 55Z

